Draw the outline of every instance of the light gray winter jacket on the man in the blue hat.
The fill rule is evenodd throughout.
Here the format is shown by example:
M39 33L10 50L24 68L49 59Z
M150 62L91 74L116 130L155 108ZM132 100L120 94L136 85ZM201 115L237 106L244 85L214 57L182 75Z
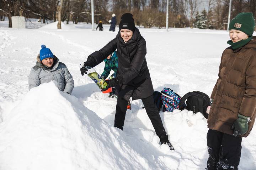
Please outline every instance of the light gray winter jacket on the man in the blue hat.
M36 66L31 69L28 77L28 89L54 80L58 83L60 91L71 94L74 88L74 80L66 65L59 62L59 59L54 56L53 67L50 69L42 64L39 57L40 55L37 56Z

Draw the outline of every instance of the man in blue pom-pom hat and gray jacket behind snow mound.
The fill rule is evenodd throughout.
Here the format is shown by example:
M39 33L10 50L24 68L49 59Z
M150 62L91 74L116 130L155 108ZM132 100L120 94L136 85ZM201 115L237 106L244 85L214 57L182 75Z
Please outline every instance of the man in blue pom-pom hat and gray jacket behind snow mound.
M41 47L36 66L31 69L28 77L28 89L54 80L58 83L60 91L71 94L74 88L74 80L68 68L64 63L59 62L59 59L45 45Z

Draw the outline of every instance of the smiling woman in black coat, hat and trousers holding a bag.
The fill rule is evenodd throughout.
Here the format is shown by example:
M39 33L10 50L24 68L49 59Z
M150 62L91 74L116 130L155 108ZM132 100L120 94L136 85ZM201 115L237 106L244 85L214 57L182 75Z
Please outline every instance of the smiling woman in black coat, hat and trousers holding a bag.
M142 99L146 113L153 124L156 134L160 138L161 144L167 144L173 150L153 99L154 90L145 58L146 41L135 27L132 16L130 13L122 15L119 24L120 31L116 38L87 58L87 61L81 68L81 74L84 75L87 72L86 66L97 66L108 55L117 50L117 76L111 80L106 80L108 86L102 90L104 91L115 86L118 91L114 126L123 130L124 118L130 97L132 97L132 100Z

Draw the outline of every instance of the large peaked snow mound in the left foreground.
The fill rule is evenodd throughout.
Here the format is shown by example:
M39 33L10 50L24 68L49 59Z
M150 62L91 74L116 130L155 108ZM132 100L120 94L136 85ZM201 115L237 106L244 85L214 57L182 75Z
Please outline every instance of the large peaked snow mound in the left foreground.
M53 82L41 84L0 124L0 169L153 169L120 132Z

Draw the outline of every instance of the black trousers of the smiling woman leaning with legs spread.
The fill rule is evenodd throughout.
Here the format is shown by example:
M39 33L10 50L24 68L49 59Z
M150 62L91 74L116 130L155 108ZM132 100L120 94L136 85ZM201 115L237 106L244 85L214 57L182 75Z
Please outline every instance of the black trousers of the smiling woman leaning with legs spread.
M158 112L158 108L153 99L153 95L142 99L144 107L146 109L146 113L155 129L156 135L166 136L166 132L164 129L164 125L162 124L161 117ZM121 97L117 97L117 106L116 106L116 115L114 120L114 126L123 130L124 118L126 116L128 101L122 99Z

